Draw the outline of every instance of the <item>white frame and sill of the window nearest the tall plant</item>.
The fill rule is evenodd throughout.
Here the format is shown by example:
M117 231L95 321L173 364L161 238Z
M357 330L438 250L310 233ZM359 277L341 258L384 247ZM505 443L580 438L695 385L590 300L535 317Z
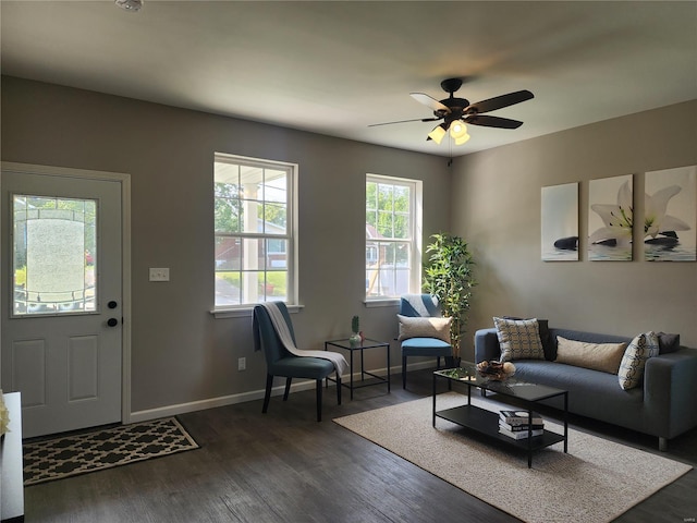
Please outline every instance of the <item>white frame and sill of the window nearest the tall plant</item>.
M411 243L411 256L409 256L409 277L408 277L408 292L409 293L419 293L421 292L421 250L423 250L423 221L424 221L424 210L423 210L423 181L421 180L413 180L407 178L398 178L398 177L388 177L383 174L366 174L366 212L367 212L367 184L368 183L378 183L378 184L389 184L389 185L403 185L409 187L409 209L411 209L411 219L409 219L409 235L411 240L407 240ZM380 239L381 242L400 242L403 243L404 239ZM366 223L366 245L364 248L364 259L366 259L364 273L367 276L367 259L368 259L368 230ZM399 301L399 295L368 295L366 293L365 303L366 306L380 306L380 305L391 305L395 301Z

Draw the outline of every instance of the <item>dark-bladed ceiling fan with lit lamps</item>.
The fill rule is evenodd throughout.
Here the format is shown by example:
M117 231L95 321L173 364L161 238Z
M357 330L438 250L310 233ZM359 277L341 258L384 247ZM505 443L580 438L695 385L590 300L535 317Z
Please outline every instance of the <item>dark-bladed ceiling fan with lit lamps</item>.
M432 139L437 144L440 144L450 130L450 135L454 138L455 145L462 145L469 139L467 127L465 125L467 123L470 125L482 125L486 127L519 127L523 125L523 122L518 120L490 117L482 113L496 111L497 109L513 106L535 97L529 90L516 90L515 93L509 93L508 95L496 96L488 100L469 104L469 100L466 100L465 98L455 98L454 96L455 92L462 86L462 78L443 80L440 83L440 86L445 93L450 94L450 97L440 101L424 93L411 93L412 98L433 110L435 118L418 118L414 120L401 120L399 122L375 123L369 126L374 127L377 125L391 125L393 123L405 122L437 122L442 120L442 123L436 125L436 127L428 133L428 138L426 139Z

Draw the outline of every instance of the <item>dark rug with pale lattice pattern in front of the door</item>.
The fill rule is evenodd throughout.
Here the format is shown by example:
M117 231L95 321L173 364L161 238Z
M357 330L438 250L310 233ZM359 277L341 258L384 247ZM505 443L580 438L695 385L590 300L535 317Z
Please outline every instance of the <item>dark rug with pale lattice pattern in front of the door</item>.
M25 443L24 485L197 449L174 417Z

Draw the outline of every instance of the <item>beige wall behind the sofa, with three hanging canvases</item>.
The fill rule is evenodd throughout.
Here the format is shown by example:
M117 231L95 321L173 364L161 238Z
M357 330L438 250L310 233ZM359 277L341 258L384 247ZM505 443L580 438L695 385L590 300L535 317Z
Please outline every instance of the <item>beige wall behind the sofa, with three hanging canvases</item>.
M634 174L644 194L645 172L696 163L697 100L457 158L451 227L469 242L480 282L468 330L515 315L623 336L678 332L697 346L697 263L644 262L637 244L633 262L585 252L589 180ZM541 187L571 182L580 182L580 262L541 262Z

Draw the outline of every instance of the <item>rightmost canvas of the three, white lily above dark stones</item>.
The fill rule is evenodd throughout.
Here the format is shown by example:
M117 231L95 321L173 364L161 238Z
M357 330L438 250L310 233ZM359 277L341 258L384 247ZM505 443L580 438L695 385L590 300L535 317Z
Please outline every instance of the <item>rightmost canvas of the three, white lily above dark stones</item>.
M697 260L697 166L646 173L644 258Z

